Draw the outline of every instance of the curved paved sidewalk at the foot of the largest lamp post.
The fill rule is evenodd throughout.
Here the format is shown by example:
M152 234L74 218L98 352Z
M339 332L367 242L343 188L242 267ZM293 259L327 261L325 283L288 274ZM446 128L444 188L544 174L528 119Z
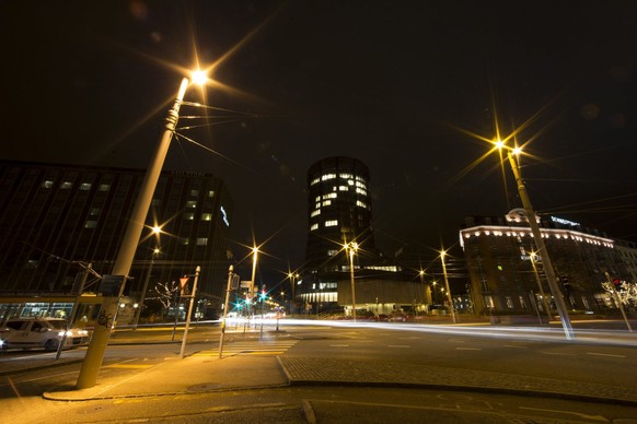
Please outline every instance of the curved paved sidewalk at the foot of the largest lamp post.
M394 362L250 355L224 358L195 355L183 360L169 360L143 372L100 379L97 385L90 389L68 388L46 392L44 398L85 401L290 385L458 389L637 405L637 389L628 387L435 366L414 367Z

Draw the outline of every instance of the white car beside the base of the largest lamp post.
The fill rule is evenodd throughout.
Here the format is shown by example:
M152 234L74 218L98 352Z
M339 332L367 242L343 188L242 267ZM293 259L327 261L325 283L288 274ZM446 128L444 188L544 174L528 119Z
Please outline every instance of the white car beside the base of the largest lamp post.
M89 331L72 328L67 331L67 320L61 318L12 318L0 328L1 349L34 349L56 351L65 337L63 348L89 342Z

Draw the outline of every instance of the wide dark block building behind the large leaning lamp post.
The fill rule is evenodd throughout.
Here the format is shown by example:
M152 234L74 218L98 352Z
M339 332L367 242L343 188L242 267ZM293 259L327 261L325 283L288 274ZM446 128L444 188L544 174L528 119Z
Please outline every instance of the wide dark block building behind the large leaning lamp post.
M108 274L144 170L42 163L0 163L0 291L70 294L82 268ZM149 291L201 267L198 292L225 287L232 201L209 174L163 172L130 270L139 294L152 262ZM161 227L154 234L152 228ZM159 252L154 254L154 250ZM96 283L86 286L95 292Z

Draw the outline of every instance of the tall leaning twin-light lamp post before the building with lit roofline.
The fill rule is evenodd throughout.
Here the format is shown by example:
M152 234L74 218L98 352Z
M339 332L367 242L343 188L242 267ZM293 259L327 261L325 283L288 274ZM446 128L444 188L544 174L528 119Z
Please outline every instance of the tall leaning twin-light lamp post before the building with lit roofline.
M520 175L520 168L516 163L513 154L520 154L520 149L516 149L513 152L508 152L509 163L511 164L511 169L513 170L513 176L516 177L518 192L520 195L520 199L522 200L522 205L526 212L526 219L529 221L529 226L531 227L531 233L533 234L533 240L535 242L535 246L537 246L537 255L542 258L542 263L544 264L544 272L546 273L546 279L548 280L548 288L551 288L551 294L555 299L555 305L557 306L557 313L559 314L566 339L575 340L575 332L572 331L572 327L570 325L568 310L566 308L566 304L564 303L564 297L561 297L559 287L557 286L555 269L553 268L548 251L546 250L544 238L542 238L542 233L540 232L540 226L537 225L537 221L535 219L535 211L533 211L533 207L531 205L531 200L526 193L526 187L524 186L524 181Z

